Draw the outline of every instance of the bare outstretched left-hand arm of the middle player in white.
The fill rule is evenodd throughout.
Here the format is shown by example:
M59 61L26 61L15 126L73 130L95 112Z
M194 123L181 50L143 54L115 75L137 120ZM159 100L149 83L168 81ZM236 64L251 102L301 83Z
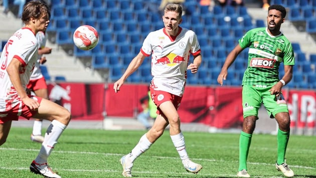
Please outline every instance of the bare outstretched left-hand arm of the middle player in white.
M121 85L124 83L126 78L132 74L142 63L145 59L145 55L142 52L139 52L129 63L128 67L126 68L123 75L114 83L113 89L115 92L119 90Z

